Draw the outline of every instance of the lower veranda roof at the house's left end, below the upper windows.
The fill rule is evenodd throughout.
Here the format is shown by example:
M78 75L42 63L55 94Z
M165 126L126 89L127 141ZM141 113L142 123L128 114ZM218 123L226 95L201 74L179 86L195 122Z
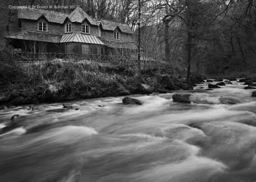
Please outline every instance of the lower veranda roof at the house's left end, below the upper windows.
M45 33L45 32L21 31L13 35L8 35L5 38L16 38L16 39L23 39L23 40L37 40L37 41L59 43L61 39L61 35Z

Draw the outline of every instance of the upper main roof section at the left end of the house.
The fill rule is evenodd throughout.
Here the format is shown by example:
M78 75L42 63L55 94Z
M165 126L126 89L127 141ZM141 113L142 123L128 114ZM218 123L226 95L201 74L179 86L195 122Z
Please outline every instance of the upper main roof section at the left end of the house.
M42 15L49 21L54 23L63 23L63 21L68 17L68 14L34 9L34 8L24 8L18 10L18 18L38 20Z

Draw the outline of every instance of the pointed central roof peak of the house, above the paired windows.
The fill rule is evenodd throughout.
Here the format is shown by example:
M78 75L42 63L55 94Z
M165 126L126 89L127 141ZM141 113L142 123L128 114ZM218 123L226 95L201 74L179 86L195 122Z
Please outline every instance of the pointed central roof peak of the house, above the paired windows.
M85 19L89 21L92 25L99 25L97 21L91 18L87 13L85 13L80 7L77 7L69 16L71 22L82 23Z

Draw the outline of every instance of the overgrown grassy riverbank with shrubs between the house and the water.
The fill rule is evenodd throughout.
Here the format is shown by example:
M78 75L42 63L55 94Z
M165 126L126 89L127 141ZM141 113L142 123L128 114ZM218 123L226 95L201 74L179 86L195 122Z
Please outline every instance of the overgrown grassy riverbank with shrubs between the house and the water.
M140 76L136 63L61 59L20 63L8 50L1 52L0 61L0 104L8 105L145 94L141 84L157 92L157 88L178 89L185 80L170 74L166 65L143 68Z

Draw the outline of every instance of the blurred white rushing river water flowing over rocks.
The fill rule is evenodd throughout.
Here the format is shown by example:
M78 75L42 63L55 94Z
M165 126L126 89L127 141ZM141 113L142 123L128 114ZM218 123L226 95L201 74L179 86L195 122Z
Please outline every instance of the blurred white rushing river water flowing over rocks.
M1 110L0 128L20 117L19 127L0 134L0 181L256 181L252 90L207 84L174 93L238 104L176 103L159 94L132 96L141 106L116 97L75 101L77 111L63 103Z

